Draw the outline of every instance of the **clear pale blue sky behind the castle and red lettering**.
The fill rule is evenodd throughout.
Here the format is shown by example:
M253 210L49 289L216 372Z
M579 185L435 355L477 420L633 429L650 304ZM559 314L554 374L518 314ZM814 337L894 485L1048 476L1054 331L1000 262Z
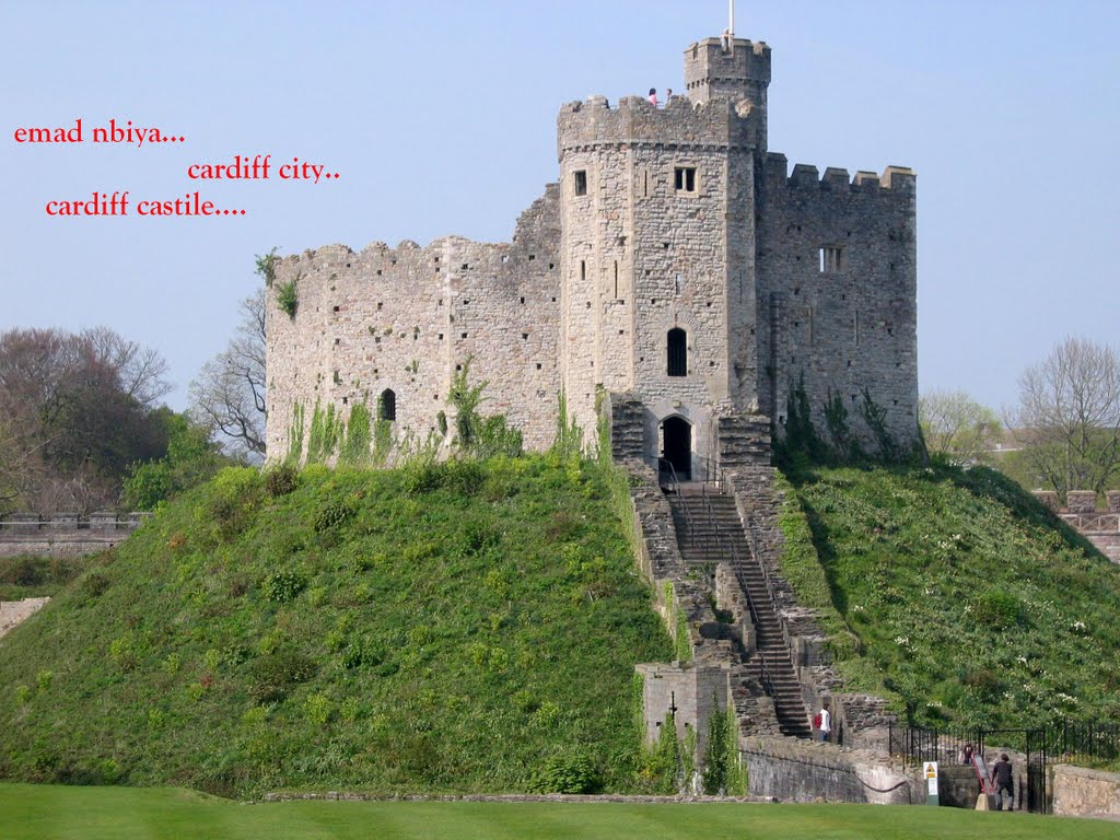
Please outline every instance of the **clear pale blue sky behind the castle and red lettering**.
M683 88L726 0L0 2L0 329L106 324L186 386L225 345L253 255L502 241L557 176L556 114ZM921 386L998 408L1066 335L1117 343L1120 3L737 3L773 48L769 146L918 175ZM17 144L110 118L183 144ZM295 157L336 183L194 183ZM233 218L49 218L46 202L198 189Z

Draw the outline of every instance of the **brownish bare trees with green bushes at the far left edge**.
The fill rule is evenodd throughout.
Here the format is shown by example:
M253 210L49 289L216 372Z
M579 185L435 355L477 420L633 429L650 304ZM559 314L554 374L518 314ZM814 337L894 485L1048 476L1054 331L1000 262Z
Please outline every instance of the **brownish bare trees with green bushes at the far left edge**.
M177 450L195 477L216 469L208 430L160 404L166 376L158 352L106 327L0 333L0 512L147 506L130 479L162 464L170 488Z

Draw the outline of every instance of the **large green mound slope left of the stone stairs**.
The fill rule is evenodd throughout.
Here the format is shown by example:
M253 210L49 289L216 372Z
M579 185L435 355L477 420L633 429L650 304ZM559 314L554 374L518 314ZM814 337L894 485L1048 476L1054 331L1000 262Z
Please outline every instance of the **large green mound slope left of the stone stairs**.
M0 643L0 776L641 786L633 665L671 645L609 498L544 458L226 470Z

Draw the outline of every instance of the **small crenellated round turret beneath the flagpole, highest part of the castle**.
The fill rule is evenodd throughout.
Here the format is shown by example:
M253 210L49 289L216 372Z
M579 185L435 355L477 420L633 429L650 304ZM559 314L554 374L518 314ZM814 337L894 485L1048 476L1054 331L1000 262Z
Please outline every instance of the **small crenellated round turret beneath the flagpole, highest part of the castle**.
M684 50L684 87L692 102L731 100L756 123L756 142L766 150L766 88L771 58L766 41L745 38L704 38ZM748 103L744 106L740 103Z

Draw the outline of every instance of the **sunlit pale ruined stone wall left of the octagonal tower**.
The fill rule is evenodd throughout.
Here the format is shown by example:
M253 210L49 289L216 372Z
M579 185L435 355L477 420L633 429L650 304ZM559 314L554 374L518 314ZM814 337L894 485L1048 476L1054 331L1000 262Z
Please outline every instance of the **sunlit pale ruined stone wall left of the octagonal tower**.
M451 377L470 358L470 381L488 380L484 414L505 413L525 444L554 437L559 261L557 189L517 223L512 244L449 236L420 248L376 242L280 260L269 290L268 451L288 451L293 407L305 428L316 402L348 416L395 395L394 433L424 439L447 411ZM295 317L276 292L297 282ZM306 435L305 435L306 445Z

